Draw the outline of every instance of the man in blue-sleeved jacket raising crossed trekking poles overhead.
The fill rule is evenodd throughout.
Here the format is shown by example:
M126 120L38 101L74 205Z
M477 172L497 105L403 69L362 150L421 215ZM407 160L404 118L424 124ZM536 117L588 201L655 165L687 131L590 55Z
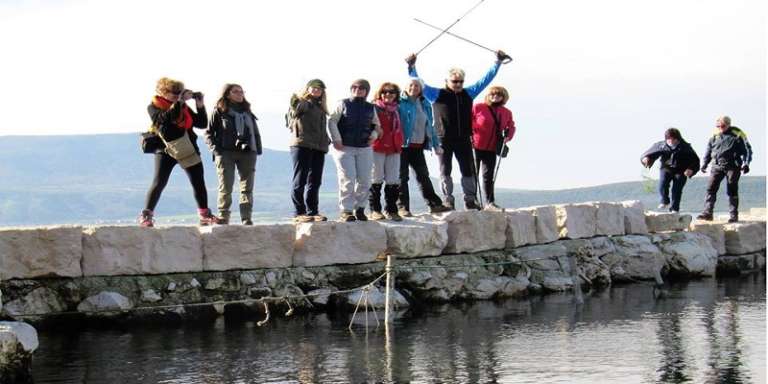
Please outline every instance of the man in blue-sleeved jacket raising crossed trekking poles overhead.
M435 127L443 149L440 156L440 182L445 196L444 204L451 209L455 209L451 178L454 155L461 171L464 207L480 209L477 203L477 175L475 175L471 142L472 100L496 77L505 57L507 56L504 52L497 51L493 67L477 83L470 86L464 87L464 71L458 68L448 71L445 87L435 88L424 85L422 94L432 103ZM411 54L405 61L408 63L408 74L418 78L416 55Z

